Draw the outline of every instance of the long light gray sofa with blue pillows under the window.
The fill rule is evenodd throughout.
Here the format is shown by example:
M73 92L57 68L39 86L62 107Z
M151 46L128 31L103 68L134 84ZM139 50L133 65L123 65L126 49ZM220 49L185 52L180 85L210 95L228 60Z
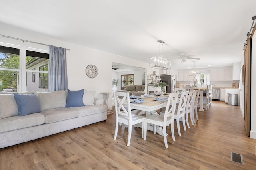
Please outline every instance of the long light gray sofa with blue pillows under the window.
M108 107L94 93L0 94L0 148L106 121Z

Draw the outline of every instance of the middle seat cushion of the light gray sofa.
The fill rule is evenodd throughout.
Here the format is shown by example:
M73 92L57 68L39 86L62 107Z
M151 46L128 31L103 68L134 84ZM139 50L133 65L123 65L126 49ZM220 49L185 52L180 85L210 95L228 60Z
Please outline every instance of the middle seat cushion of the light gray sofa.
M78 116L76 109L67 107L47 109L41 112L45 117L45 123L53 123L66 119L75 118Z

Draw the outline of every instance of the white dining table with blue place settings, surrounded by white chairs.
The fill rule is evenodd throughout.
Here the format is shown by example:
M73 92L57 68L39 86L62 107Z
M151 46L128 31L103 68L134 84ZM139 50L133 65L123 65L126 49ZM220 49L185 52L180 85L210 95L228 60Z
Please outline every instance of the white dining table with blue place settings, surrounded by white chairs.
M166 97L166 96L168 96L168 95L165 95L164 97ZM141 99L144 99L143 103L132 103L132 102L130 102L131 109L140 110L140 113L138 113L138 115L143 115L146 112L146 117L148 117L150 115L153 115L153 114L158 114L156 111L158 109L166 107L167 100L166 101L156 101L155 97L160 97L160 96L151 95L151 97L141 97ZM132 101L132 99L130 99L130 101ZM134 125L134 127L142 128L142 124L138 123L138 124ZM148 125L147 129L150 130L150 131L153 131L153 126ZM156 128L156 133L163 136L162 127L157 127Z

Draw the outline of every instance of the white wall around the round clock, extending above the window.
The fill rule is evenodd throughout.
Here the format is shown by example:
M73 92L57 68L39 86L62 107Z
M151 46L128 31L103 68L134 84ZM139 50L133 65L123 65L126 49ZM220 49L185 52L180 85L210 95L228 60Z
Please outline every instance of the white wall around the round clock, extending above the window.
M2 35L6 36L70 49L70 51L67 50L68 88L70 90L95 90L96 97L102 97L101 92L112 93L112 62L146 69L149 67L148 62L144 63L128 59L126 57L74 45L72 43L62 42L53 38L31 34L30 32L12 27L1 26L0 32ZM23 43L20 40L10 38L0 37L0 42L49 51L48 46L28 42ZM85 69L89 64L93 64L98 68L98 75L94 79L86 76ZM111 103L111 97L108 99L108 103Z

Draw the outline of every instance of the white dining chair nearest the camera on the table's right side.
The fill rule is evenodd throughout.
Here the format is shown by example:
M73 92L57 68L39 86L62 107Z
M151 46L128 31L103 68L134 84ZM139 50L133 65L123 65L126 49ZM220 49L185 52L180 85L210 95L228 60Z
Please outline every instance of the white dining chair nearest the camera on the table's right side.
M171 124L171 132L172 132L172 140L175 141L174 136L174 112L178 101L178 94L179 93L170 93L166 105L166 109L164 115L151 115L149 117L144 118L144 137L143 139L146 140L147 137L147 124L153 124L153 132L156 134L156 125L163 127L163 136L164 136L164 145L168 148L167 144L167 137L166 137L166 126ZM170 108L170 105L171 108ZM170 108L170 109L169 109Z

